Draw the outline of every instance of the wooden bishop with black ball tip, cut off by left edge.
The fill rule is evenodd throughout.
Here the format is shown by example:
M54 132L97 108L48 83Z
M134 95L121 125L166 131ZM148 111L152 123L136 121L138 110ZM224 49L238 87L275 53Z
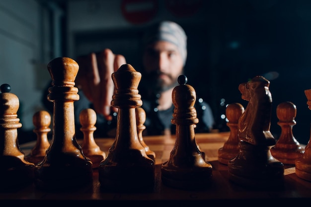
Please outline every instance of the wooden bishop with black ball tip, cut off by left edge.
M33 182L33 163L25 159L17 139L22 124L17 118L18 97L8 84L0 86L0 191L16 191Z

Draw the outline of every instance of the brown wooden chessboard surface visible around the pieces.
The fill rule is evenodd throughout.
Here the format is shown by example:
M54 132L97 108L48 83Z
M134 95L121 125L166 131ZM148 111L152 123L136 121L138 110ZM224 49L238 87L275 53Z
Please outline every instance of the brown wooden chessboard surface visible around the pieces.
M249 206L251 204L269 204L277 201L278 204L300 203L305 200L311 201L311 183L298 178L295 174L295 166L285 165L285 185L280 190L250 190L231 183L228 179L228 167L217 160L218 149L228 139L229 132L196 134L196 142L201 151L206 153L206 160L213 166L213 177L209 187L201 191L185 191L167 187L161 183L161 163L168 160L169 154L175 143L174 136L144 137L144 141L151 150L156 152L156 184L152 193L103 193L100 191L98 172L93 171L93 185L88 188L76 189L74 192L43 192L30 185L15 193L0 193L0 203L4 200L22 204L39 204L45 206L56 202L70 201L72 204L87 203L95 205L126 204L146 202L148 206L169 206L171 204L189 204L193 206L196 202L208 204L238 204ZM113 138L97 138L96 143L102 151L108 154L108 149L113 143ZM81 140L78 140L81 144ZM20 147L28 154L35 142L22 144Z

